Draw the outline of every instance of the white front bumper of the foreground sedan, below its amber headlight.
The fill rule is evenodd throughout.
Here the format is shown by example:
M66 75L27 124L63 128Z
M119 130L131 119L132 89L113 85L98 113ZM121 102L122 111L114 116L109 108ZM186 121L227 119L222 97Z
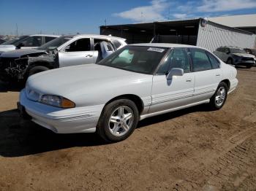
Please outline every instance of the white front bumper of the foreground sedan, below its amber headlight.
M29 100L24 89L20 92L20 105L32 121L55 133L94 133L104 107L104 104L72 109L48 106Z

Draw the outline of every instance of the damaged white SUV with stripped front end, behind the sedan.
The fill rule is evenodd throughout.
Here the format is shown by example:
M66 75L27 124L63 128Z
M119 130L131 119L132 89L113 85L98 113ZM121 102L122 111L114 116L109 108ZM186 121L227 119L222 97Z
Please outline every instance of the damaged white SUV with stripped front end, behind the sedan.
M32 74L65 66L97 63L126 45L115 36L61 36L37 49L16 50L0 55L0 79L26 81Z

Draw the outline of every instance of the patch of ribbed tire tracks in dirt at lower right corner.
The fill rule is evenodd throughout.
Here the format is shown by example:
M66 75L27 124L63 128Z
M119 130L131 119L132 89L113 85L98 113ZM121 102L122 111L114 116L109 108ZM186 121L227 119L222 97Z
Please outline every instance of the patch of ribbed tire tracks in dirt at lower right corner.
M173 184L173 190L236 190L250 177L250 169L256 166L256 129L242 130L228 141L230 144L216 160L192 166L192 173L185 174L186 178ZM256 182L252 187L256 187Z

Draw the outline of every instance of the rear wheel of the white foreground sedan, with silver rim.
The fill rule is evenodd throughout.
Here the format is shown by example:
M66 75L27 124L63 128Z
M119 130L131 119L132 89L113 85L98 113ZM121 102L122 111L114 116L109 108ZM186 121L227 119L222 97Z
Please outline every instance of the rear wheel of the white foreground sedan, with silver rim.
M216 92L211 97L210 106L213 110L221 109L227 100L227 84L225 82L220 82L217 87Z

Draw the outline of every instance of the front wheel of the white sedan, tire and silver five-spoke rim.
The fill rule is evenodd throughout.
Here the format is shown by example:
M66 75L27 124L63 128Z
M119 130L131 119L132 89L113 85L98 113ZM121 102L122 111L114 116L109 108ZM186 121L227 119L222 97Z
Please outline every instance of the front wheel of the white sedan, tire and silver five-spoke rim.
M106 105L97 125L97 133L109 142L127 139L138 125L139 112L133 101L118 99Z

